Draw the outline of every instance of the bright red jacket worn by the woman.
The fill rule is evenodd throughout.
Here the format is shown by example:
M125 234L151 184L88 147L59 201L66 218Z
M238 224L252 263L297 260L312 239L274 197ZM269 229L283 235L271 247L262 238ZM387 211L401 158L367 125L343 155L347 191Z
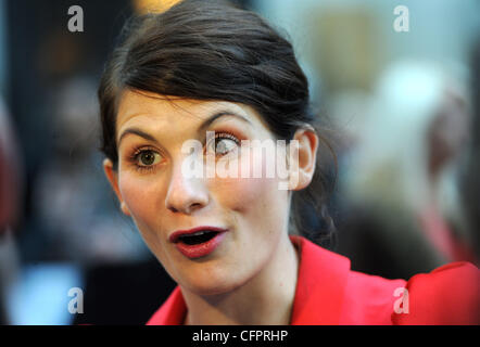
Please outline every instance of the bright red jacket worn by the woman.
M291 324L480 324L480 271L452 262L409 281L350 269L350 260L291 236L301 260ZM177 286L148 325L181 325L187 307Z

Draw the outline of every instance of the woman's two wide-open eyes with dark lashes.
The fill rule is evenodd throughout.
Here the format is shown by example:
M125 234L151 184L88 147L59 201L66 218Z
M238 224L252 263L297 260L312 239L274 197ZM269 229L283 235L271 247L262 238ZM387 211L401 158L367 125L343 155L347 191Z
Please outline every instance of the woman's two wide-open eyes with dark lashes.
M213 145L213 147L212 147ZM215 153L216 157L225 156L240 145L240 140L228 131L215 132L215 137L204 146L204 153ZM211 152L212 151L212 152ZM140 172L150 172L161 164L164 156L150 146L138 147L128 157L135 168Z

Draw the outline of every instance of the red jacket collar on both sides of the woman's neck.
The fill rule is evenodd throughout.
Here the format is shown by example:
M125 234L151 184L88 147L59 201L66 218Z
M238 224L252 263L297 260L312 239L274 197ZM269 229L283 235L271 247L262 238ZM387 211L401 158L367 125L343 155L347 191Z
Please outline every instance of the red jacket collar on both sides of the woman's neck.
M350 260L301 236L290 236L300 250L299 277L291 324L338 324ZM187 306L177 286L148 325L181 325Z

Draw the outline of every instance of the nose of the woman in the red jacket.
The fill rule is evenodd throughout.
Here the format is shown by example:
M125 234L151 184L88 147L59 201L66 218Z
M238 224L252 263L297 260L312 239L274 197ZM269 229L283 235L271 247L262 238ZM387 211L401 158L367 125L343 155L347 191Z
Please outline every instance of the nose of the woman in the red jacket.
M203 179L186 177L181 163L173 168L172 179L165 197L165 206L173 213L191 215L209 203L209 192Z

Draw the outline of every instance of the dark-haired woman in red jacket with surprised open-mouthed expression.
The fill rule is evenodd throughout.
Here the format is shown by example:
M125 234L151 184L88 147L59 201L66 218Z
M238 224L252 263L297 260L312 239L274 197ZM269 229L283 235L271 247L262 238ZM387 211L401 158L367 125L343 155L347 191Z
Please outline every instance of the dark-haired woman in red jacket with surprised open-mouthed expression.
M478 322L469 264L391 281L289 236L310 232L307 208L328 220L319 137L292 47L263 20L186 0L124 33L99 88L104 170L122 211L178 283L149 324ZM288 156L251 155L254 141L276 140L288 141ZM278 164L287 180L254 172ZM222 167L242 175L218 175ZM449 290L464 291L463 300L424 310L429 283L443 291L452 277Z

